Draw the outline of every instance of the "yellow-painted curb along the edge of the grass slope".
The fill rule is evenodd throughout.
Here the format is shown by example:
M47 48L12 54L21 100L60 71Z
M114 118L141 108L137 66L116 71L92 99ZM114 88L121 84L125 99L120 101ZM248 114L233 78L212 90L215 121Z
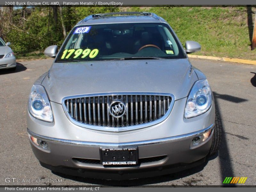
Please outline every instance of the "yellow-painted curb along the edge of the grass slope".
M228 61L234 63L243 63L243 64L250 64L256 65L256 61L254 60L246 60L246 59L231 59L227 57L212 57L212 56L203 56L203 55L188 55L189 58L198 58L198 59L209 59L209 60L216 60L216 61Z

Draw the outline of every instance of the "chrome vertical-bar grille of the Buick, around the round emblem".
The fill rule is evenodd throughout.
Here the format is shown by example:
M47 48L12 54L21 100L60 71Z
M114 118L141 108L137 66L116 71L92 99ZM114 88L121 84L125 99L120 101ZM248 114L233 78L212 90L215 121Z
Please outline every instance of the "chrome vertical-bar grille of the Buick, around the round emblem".
M108 110L111 101L116 99L124 101L126 105L125 114L119 118L111 116ZM117 132L159 123L157 120L164 120L168 116L173 102L170 94L130 93L68 97L62 100L62 105L69 119L79 126L86 128L94 126L92 129ZM134 128L131 129L131 127Z

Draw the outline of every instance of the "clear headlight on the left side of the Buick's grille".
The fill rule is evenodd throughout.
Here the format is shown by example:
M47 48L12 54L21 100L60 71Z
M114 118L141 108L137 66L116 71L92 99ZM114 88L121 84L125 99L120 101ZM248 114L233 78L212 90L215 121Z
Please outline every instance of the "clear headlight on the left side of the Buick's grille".
M33 85L28 99L28 111L37 119L52 122L52 108L42 85Z

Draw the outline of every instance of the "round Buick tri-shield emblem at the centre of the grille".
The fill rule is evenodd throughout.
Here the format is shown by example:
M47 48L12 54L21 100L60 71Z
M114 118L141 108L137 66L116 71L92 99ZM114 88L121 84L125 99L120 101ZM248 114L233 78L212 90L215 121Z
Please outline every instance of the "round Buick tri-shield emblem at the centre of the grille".
M124 101L116 99L111 101L108 107L108 111L113 117L119 118L125 114L126 105Z

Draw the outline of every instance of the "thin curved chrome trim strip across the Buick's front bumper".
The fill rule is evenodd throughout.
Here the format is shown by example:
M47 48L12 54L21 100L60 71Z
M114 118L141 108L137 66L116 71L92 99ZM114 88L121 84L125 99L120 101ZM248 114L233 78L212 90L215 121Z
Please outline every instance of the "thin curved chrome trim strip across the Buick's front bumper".
M78 146L88 146L88 147L113 147L113 148L121 148L121 147L132 147L132 146L144 146L144 145L153 145L153 144L161 144L161 143L168 143L172 141L177 141L177 140L185 140L189 138L193 138L197 135L201 135L207 131L210 131L213 129L214 123L211 124L209 127L197 131L197 132L192 132L184 135L178 135L178 136L173 136L173 137L166 137L162 139L153 139L153 140L144 140L144 141L132 141L132 142L124 142L124 143L104 143L104 142L91 142L91 141L76 141L76 140L66 140L66 139L57 139L57 138L52 138L52 137L46 137L42 135L38 135L34 132L31 132L29 129L27 129L28 134L40 139L44 140L47 142L52 142L52 143L60 143L60 144L68 144L68 145L78 145Z

